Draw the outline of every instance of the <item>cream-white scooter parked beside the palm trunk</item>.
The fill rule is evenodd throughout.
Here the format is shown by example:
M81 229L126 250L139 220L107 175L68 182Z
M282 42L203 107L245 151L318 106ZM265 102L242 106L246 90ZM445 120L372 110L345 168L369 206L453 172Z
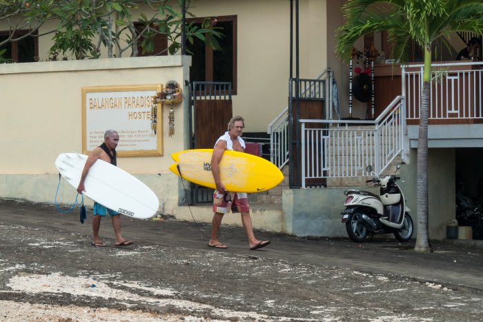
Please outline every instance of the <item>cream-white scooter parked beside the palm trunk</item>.
M400 164L397 164L396 172ZM367 172L373 168L368 165ZM408 241L413 236L413 219L406 207L404 194L396 181L401 179L395 174L374 179L373 182L380 185L380 195L372 192L349 189L344 191L347 196L342 210L342 222L346 223L347 234L357 243L366 240L368 234L393 233L398 241Z

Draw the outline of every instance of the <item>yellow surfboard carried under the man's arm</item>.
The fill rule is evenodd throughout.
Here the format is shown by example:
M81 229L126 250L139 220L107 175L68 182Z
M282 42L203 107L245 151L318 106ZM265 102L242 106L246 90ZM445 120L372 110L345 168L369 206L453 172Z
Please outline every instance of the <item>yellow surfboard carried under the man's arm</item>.
M211 154L213 149L173 153L171 157L175 163L169 170L197 185L215 189L211 173ZM224 183L226 190L231 192L261 192L275 187L284 179L284 174L270 161L237 151L224 152L219 170L221 182Z

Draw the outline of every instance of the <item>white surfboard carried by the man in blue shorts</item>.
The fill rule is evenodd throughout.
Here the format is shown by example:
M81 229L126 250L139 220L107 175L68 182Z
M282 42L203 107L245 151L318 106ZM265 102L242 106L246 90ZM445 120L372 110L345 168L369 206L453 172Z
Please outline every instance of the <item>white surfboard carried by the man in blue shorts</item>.
M55 166L63 178L77 189L87 155L62 153ZM128 172L98 159L90 167L84 181L85 194L90 199L128 217L148 219L156 214L159 199L147 185Z

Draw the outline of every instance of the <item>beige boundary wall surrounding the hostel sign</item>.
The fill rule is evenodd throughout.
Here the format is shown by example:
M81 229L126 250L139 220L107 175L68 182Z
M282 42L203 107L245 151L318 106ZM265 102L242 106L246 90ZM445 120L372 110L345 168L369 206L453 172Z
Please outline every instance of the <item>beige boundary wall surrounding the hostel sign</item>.
M182 84L189 62L190 57L173 56L0 65L0 197L53 203L55 159L63 152L82 152L83 86L162 84L171 79ZM170 154L184 148L185 113L183 103L175 107L175 134L169 137L168 110L163 108L163 131L158 134L164 155L119 158L118 165L142 179L166 213L173 214L178 179L168 166ZM66 181L61 187L58 201L72 203L75 190Z

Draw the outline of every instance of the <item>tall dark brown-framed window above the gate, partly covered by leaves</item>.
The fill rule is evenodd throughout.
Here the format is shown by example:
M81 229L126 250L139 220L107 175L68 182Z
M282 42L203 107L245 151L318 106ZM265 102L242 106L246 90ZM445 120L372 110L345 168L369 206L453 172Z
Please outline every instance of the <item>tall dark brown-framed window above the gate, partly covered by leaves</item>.
M204 18L187 19L201 26ZM216 17L216 27L223 28L224 37L217 39L220 50L213 50L210 46L196 37L193 44L189 41L186 48L193 52L190 69L191 81L229 81L232 93L237 94L237 16Z

